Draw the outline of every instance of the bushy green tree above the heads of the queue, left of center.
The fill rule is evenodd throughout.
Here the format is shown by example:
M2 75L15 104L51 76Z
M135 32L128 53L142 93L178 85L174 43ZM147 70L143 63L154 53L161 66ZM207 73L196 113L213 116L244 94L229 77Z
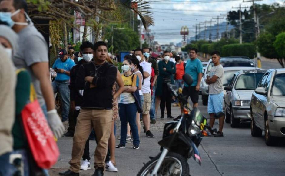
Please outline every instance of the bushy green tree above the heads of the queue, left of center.
M111 32L112 25L113 25L113 32ZM130 28L130 26L126 23L119 23L119 24L112 23L106 26L103 41L105 39L108 40L107 43L108 47L112 46L112 34L113 34L114 53L118 53L120 51L129 51L132 49L136 49L140 46L138 33L133 31Z

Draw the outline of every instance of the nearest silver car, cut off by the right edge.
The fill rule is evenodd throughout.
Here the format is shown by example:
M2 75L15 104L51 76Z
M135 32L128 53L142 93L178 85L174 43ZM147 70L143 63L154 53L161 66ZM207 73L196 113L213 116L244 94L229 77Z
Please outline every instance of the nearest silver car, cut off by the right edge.
M250 132L265 133L265 143L276 145L285 137L285 69L270 69L261 78L251 97Z

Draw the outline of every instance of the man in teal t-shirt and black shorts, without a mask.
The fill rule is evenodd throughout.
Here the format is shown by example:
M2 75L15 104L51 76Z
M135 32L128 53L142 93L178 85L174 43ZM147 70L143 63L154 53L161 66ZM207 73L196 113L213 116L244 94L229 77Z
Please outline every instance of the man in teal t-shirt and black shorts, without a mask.
M200 83L203 76L203 65L200 59L197 58L197 53L198 49L190 49L190 60L188 60L186 63L185 73L191 75L193 78L193 83L191 85L184 83L184 88L182 90L183 96L185 96L187 99L190 96L193 103L193 108L198 107Z

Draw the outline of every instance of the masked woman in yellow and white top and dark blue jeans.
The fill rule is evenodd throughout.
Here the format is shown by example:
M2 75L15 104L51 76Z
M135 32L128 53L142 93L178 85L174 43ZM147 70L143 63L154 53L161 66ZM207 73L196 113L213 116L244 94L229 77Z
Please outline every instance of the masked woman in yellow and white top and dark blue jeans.
M137 107L132 94L138 89L139 79L136 74L131 72L131 64L131 60L126 59L122 65L122 70L124 71L122 74L122 79L127 90L125 90L120 96L119 116L121 120L121 139L120 144L117 145L116 148L126 147L127 124L129 123L134 139L133 149L139 149L140 140L138 135L138 127L136 125Z

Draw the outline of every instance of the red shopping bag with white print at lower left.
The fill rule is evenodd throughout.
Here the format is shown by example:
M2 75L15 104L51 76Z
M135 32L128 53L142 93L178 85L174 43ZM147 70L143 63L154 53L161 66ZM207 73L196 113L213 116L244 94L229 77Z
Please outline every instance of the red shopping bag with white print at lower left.
M21 113L25 134L35 162L40 168L51 168L58 160L59 150L54 134L36 99L33 85L31 85L30 103Z

